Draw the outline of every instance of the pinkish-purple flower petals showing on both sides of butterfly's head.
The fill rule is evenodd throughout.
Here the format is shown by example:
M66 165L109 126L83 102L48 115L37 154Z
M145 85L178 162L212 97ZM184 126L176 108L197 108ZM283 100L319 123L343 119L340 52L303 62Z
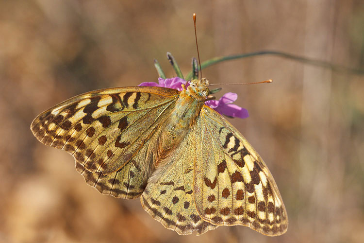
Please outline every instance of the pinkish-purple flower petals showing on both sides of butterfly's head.
M182 84L186 84L187 82L179 77L174 78L159 78L158 83L155 82L144 82L138 86L153 86L153 87L166 87L166 88L174 88L179 91L182 90ZM189 86L189 83L186 84L186 87ZM244 109L236 104L232 104L238 95L235 93L226 93L224 94L218 101L210 100L206 101L205 104L213 108L218 113L229 116L229 117L238 117L238 118L247 118L249 116L248 110Z

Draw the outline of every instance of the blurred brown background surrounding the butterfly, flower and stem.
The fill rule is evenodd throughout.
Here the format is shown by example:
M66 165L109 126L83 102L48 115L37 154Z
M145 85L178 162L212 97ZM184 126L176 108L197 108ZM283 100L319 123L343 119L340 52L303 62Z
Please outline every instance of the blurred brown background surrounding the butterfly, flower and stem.
M29 129L86 91L157 80L172 52L202 60L278 50L364 68L363 0L0 0L0 242L364 242L364 76L274 56L205 69L250 117L232 123L265 159L290 225L280 237L221 226L179 236L139 200L86 185L64 151Z

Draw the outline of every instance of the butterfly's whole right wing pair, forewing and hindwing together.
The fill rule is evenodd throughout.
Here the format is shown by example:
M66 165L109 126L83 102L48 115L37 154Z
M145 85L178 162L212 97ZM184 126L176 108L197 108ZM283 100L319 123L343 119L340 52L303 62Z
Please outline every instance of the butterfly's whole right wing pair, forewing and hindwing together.
M244 225L273 236L288 226L281 195L263 160L208 106L174 155L149 178L141 203L179 234Z

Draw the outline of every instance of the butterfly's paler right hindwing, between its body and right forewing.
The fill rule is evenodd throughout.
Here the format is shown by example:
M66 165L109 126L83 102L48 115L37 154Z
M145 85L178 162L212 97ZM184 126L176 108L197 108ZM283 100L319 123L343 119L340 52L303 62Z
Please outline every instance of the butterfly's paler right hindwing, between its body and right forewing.
M180 146L149 178L141 196L143 208L166 228L180 235L202 234L217 226L205 222L197 211L193 176L198 126L193 125Z

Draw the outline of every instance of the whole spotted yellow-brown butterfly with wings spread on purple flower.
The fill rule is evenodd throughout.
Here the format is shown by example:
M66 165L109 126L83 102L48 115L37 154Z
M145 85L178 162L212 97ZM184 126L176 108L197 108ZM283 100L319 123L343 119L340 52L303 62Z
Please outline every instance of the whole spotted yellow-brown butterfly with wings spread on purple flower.
M202 78L181 90L91 91L44 111L31 130L71 154L87 184L117 198L141 197L143 208L178 234L243 225L281 235L288 218L272 174L205 104L208 86Z

